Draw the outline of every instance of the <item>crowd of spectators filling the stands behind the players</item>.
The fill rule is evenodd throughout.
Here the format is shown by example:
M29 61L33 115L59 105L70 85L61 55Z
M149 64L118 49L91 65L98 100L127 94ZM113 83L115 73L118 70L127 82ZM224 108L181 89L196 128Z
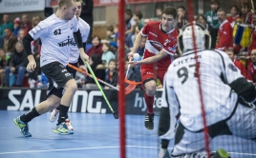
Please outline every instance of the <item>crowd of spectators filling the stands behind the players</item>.
M245 78L256 82L256 70L254 70L256 69L256 17L250 7L249 4L244 3L242 6L230 6L230 10L224 10L218 0L211 0L210 10L196 15L195 20L201 23L211 35L211 49L226 51L234 64L241 69ZM161 10L156 8L156 17L152 19L144 19L143 13L139 10L134 13L132 10L125 10L125 56L133 47L139 30L150 21L161 20ZM183 6L178 7L177 11L175 29L180 31L190 17ZM13 20L10 19L9 14L3 15L0 26L1 87L42 88L47 86L48 79L39 68L40 40L32 42L32 53L37 62L37 69L33 73L26 71L28 59L22 45L24 36L41 20L39 16L33 16L31 19L26 13ZM117 87L118 25L107 27L106 39L100 39L99 36L99 34L90 35L90 42L85 48L90 56L90 65L97 78ZM146 40L143 39L137 51L140 56L137 60L143 57L145 44ZM128 59L126 61L128 62ZM80 88L96 88L94 80L90 77L77 73L75 79ZM141 81L139 67L129 69L129 80ZM161 85L158 86L160 89ZM109 88L105 87L105 89Z

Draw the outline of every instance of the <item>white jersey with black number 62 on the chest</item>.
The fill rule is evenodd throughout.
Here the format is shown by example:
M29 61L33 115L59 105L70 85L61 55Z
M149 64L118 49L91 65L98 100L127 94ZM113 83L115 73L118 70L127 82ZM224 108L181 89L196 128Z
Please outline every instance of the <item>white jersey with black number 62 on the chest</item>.
M73 32L78 30L76 16L72 20L59 19L54 13L41 21L29 33L35 40L42 41L40 67L59 62L66 67L69 63L70 46L75 45Z

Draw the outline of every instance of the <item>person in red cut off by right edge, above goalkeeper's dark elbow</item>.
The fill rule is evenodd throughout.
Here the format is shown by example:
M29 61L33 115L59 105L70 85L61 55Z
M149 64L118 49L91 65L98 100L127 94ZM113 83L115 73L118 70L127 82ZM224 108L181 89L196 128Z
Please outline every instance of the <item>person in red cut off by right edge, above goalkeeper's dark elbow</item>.
M247 75L248 79L256 85L256 49L252 49L250 59L251 62L248 64Z

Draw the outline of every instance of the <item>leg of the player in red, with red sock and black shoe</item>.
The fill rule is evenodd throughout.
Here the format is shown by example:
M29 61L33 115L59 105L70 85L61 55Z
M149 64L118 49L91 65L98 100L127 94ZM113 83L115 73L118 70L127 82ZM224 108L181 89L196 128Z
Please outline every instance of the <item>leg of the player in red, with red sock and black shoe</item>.
M153 72L153 66L141 66L141 80L145 89L144 99L147 106L147 113L145 115L145 128L153 129L154 128L154 100L156 92L156 75Z

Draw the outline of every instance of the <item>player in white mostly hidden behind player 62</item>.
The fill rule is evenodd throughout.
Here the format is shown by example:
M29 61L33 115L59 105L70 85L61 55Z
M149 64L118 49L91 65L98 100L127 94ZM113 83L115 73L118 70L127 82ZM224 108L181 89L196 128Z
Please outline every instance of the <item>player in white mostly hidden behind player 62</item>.
M87 41L87 38L88 38L88 35L90 32L90 26L83 19L80 18L80 14L81 14L81 10L82 10L81 3L82 3L82 0L76 2L77 10L76 10L75 16L78 20L78 28L79 28L81 36L82 36L83 47L85 48L86 41ZM79 50L77 49L76 44L71 46L70 64L75 67L79 67L79 69L83 69L83 70L87 71L86 67L84 66L84 62L79 57ZM75 78L76 70L72 69L70 67L66 67L66 69ZM63 89L63 88L61 88L61 89ZM57 105L59 105L59 104L57 104ZM56 120L56 118L58 117L58 113L59 113L59 108L53 109L53 111L50 114L49 120L51 122L54 122ZM74 128L71 124L71 120L69 118L66 119L65 123L70 130L74 130Z

